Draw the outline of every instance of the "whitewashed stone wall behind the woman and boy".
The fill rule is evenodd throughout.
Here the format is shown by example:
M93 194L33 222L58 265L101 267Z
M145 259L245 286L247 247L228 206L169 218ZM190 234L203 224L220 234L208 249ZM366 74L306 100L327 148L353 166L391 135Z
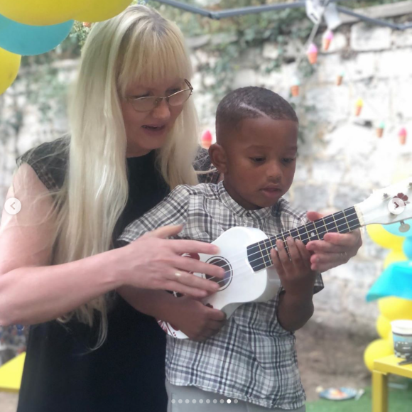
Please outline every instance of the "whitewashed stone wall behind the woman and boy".
M202 61L213 61L205 52L208 41L212 40L190 40L195 67ZM313 75L302 81L300 96L291 98L289 87L301 48L296 40L291 41L286 53L292 63L269 74L264 68L277 57L278 45L265 43L248 50L239 61L241 68L233 74L232 84L268 87L298 107L304 141L288 193L293 205L320 212L342 210L361 202L372 190L412 175L411 141L401 146L397 137L402 126L412 133L412 30L399 33L363 23L343 26L335 33L330 50L320 53ZM62 82L68 82L75 62L60 65ZM342 70L345 79L337 87L335 79ZM212 82L212 77L201 78L199 72L193 80L202 127L213 131L216 105L207 90ZM20 84L16 82L0 97L1 204L16 155L40 141L54 139L66 124L64 117L41 124L36 106L24 100L23 90L19 92ZM365 101L359 118L354 116L358 97ZM4 125L16 104L23 116L18 132ZM385 121L386 129L378 139L374 128L380 121ZM376 304L367 304L364 297L381 273L387 252L373 244L365 232L363 239L364 246L355 259L324 273L325 290L315 297L316 322L373 333Z

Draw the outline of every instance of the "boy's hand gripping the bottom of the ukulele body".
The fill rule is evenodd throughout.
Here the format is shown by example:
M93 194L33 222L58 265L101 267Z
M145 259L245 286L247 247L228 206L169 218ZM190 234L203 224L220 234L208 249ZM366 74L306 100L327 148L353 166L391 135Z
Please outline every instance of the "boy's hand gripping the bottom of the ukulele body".
M177 304L173 305L173 323L190 340L202 342L216 335L223 327L226 315L222 310L205 306L199 300L183 296L175 298Z

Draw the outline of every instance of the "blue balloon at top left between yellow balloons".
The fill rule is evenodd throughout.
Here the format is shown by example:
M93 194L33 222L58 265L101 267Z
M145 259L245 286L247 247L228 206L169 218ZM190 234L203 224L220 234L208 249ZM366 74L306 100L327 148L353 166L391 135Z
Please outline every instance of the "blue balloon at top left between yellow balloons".
M29 26L0 14L0 48L17 55L40 55L60 44L72 30L74 20L51 26Z

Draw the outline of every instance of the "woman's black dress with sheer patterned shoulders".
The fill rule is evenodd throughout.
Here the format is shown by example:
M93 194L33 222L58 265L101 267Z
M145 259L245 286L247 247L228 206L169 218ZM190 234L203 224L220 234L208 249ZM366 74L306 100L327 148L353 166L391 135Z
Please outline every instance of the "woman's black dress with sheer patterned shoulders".
M62 142L43 143L17 161L30 164L49 190L64 180L67 158L53 155ZM47 155L52 156L44 159ZM114 239L170 191L156 170L154 152L128 158L127 165L129 199ZM195 168L210 168L203 149ZM218 178L217 173L200 176L213 183ZM108 318L107 340L92 352L88 348L95 345L95 327L76 320L31 326L18 412L166 412L165 333L154 318L139 313L116 294Z

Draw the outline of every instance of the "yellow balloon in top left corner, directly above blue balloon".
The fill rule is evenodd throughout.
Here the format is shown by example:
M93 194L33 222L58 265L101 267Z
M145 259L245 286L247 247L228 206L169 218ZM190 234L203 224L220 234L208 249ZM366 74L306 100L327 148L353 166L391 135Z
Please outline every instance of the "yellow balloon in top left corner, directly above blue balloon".
M48 26L71 20L93 0L0 0L0 14L18 23Z

